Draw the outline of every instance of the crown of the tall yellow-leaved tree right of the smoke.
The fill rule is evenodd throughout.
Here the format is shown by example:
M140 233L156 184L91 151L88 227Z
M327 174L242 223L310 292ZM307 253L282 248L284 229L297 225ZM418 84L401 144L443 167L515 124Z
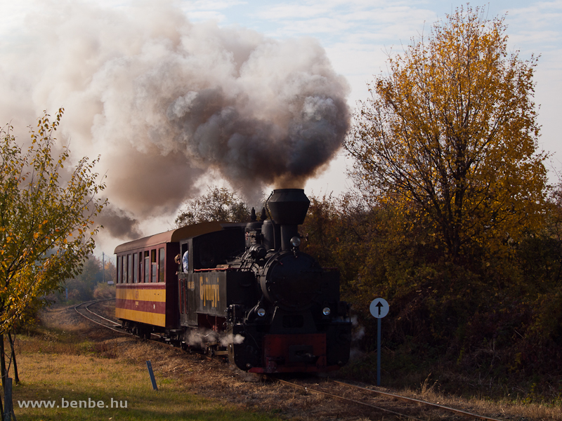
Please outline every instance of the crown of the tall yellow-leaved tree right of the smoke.
M516 241L542 218L537 59L509 55L506 29L481 8L447 15L388 59L345 144L363 191L429 220L454 260L469 244Z

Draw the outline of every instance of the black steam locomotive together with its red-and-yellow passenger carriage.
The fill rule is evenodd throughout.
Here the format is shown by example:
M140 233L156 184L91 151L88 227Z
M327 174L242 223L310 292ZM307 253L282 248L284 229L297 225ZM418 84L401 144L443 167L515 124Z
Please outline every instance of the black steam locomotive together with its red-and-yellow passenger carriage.
M302 189L277 189L270 218L252 210L247 224L204 222L117 246L117 318L251 373L343 366L351 321L339 272L299 250L309 204Z

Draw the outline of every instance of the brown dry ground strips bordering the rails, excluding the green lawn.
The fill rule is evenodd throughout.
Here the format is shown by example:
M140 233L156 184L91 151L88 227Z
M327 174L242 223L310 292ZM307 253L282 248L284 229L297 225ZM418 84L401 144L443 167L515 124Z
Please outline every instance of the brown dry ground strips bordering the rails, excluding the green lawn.
M105 302L97 311L108 318L114 316L114 302ZM150 360L155 370L157 382L165 377L173 377L188 386L192 394L218 399L233 403L241 408L258 412L277 415L287 420L399 420L404 419L395 415L360 408L359 406L337 401L304 390L292 389L277 382L262 380L261 377L245 373L223 361L209 361L200 354L190 354L181 349L169 347L157 342L140 340L129 335L120 335L93 323L86 321L74 312L73 307L50 309L44 312L42 323L46 327L66 330L81 337L87 337L93 342L96 355L108 359L120 359L124 363L145 365ZM306 382L310 387L319 385L325 387L325 377L289 377L287 380ZM345 379L339 379L345 380ZM147 382L150 382L147 373ZM379 388L385 390L384 388ZM537 417L530 417L528 413L522 415L521 409L516 406L505 406L487 402L461 401L455 397L421 396L419 392L392 391L396 394L408 394L418 399L431 398L443 405L451 405L475 413L481 413L502 420L540 420L558 419L544 413L537 413ZM348 397L355 399L351 392ZM464 420L465 417L443 413L441 410L414 408L411 404L401 401L376 398L374 405L391 408L397 412L404 412L422 420Z

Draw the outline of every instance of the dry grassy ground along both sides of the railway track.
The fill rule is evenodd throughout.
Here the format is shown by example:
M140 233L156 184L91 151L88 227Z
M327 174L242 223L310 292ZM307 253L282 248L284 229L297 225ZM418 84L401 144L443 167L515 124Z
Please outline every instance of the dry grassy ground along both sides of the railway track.
M110 304L106 310L108 314L112 313ZM73 309L46 312L43 326L35 335L18 339L23 385L15 388L15 399L60 399L66 396L65 399L79 400L81 396L92 396L92 399L105 396L100 399L127 399L129 408L120 410L113 417L108 409L91 412L61 408L59 411L44 410L38 413L37 410L22 412L16 408L19 421L70 418L108 420L110 417L113 420L259 420L271 417L303 421L394 419L353 408L324 396L256 381L256 377L228 364L209 362L197 354L187 354L154 342L143 342L92 327L82 321ZM150 388L145 366L147 359L152 361L155 369L160 387L157 393ZM312 379L311 382L322 380ZM439 383L430 377L417 385L389 392L504 420L562 419L559 406L522 404L508 399L490 401L448 396L440 393ZM396 409L400 410L399 402L396 403ZM261 415L263 413L266 414L264 418ZM417 416L422 419L431 416L432 420L464 419L429 412L420 412Z

